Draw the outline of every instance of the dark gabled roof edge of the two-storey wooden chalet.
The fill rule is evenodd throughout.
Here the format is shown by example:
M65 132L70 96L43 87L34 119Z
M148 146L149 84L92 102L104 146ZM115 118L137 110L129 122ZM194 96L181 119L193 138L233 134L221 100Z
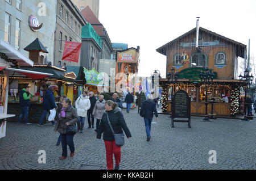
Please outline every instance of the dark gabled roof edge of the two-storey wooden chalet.
M166 55L167 47L171 47L172 45L176 44L179 40L183 39L185 36L187 36L187 35L189 35L193 32L196 32L196 28L193 28L191 31L188 31L187 33L184 33L183 35L177 37L176 39L170 41L169 43L163 45L162 47L156 49L156 52L161 53L163 55ZM239 43L237 41L234 41L232 39L229 39L225 36L219 35L218 33L209 31L209 30L207 30L205 28L202 28L202 27L199 28L199 32L209 33L210 35L213 35L213 36L216 36L220 39L229 41L230 43L234 44L237 47L237 56L245 58L245 56L246 56L246 53L245 53L246 52L246 45L244 45L242 43Z

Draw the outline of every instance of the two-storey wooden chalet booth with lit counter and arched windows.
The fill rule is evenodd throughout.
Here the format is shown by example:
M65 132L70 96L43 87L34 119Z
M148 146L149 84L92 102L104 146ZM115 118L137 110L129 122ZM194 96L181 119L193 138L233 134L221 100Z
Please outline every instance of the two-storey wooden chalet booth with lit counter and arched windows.
M191 115L234 117L243 113L238 58L246 59L246 45L201 27L156 49L167 56L166 78L159 80L162 111L171 113L172 95L184 90L191 98Z

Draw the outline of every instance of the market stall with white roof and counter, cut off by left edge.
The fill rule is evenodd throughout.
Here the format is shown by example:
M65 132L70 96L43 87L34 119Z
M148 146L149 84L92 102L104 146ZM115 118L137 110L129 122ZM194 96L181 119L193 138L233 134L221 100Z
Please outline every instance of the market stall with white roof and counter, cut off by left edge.
M10 112L9 95L17 94L16 89L10 89L10 75L19 73L28 77L46 78L52 74L28 71L22 66L33 66L34 62L16 50L9 43L0 39L0 138L6 136L6 121L19 115L20 112ZM12 92L12 93L10 93Z

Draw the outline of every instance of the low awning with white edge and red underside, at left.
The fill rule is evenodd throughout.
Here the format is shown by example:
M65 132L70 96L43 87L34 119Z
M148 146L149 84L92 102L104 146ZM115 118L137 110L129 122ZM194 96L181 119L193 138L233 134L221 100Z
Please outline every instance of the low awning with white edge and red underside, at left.
M39 71L31 71L31 70L23 70L23 69L13 69L13 68L5 68L5 67L0 67L0 69L5 69L13 72L17 72L23 75L26 75L27 77L33 78L33 79L43 79L46 77L49 77L53 74L48 74L48 73L43 73Z

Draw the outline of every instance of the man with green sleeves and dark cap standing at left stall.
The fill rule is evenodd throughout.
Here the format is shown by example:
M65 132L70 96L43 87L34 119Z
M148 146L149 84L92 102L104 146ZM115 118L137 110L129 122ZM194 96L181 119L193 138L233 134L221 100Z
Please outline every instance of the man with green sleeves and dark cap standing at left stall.
M30 98L32 94L28 92L28 85L26 85L19 94L19 105L21 107L21 114L19 115L18 124L21 123L23 117L25 118L26 124L30 124L28 121L28 110L30 107Z

